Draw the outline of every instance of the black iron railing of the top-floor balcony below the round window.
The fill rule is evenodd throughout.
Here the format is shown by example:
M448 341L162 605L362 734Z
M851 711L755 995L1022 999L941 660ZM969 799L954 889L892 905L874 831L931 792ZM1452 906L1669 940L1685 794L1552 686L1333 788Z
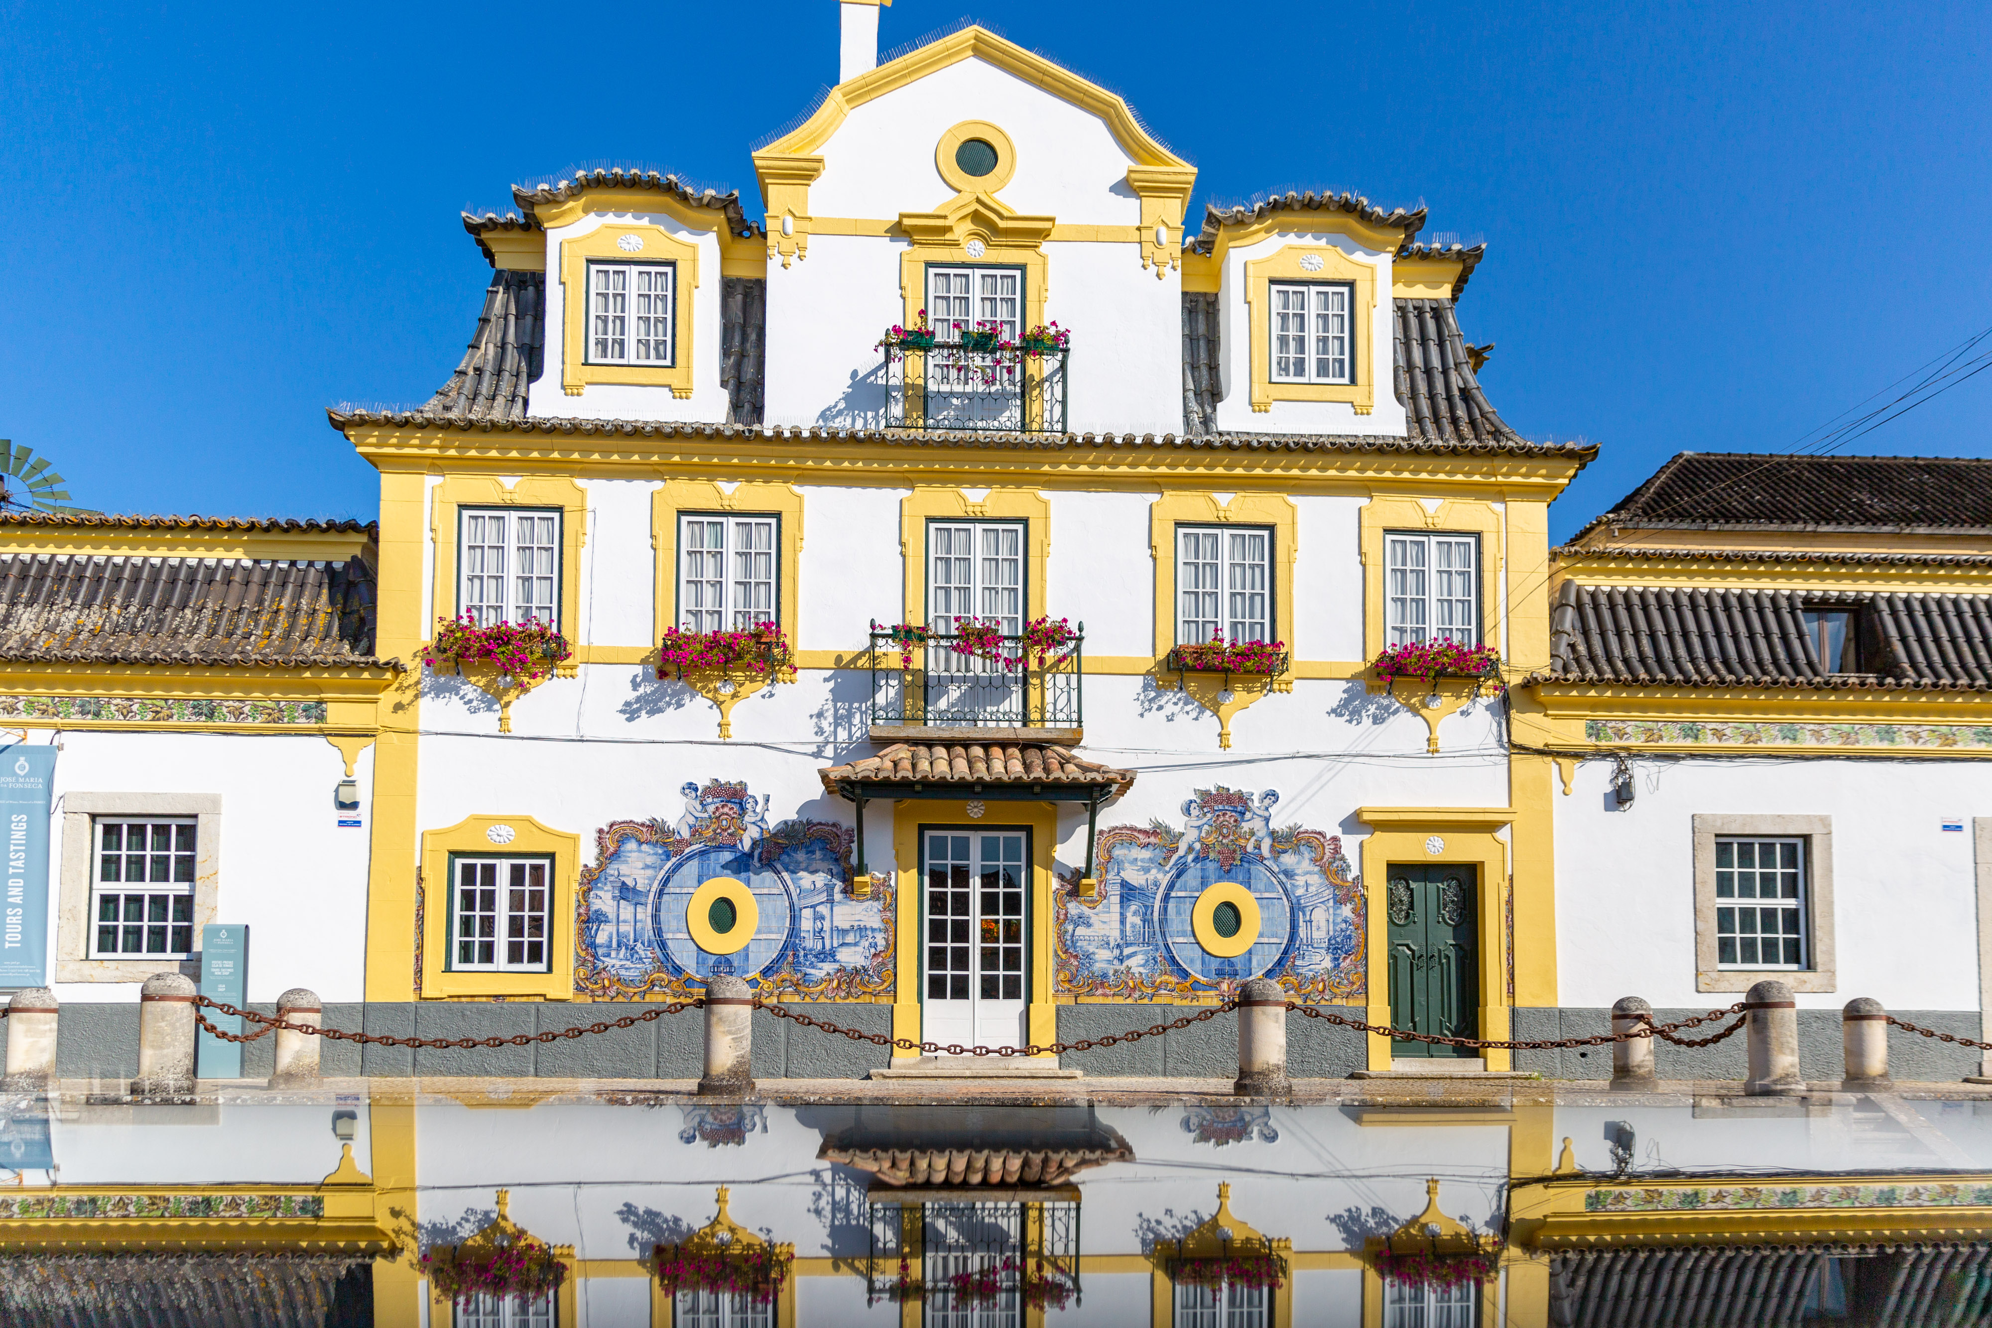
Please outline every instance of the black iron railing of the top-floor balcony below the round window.
M1066 432L1066 346L936 340L884 348L886 428Z

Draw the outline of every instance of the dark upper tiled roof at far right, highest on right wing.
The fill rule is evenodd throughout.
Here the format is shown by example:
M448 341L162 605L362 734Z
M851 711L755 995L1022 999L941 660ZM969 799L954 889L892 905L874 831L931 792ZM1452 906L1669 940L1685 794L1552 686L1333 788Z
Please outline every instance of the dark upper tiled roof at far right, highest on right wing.
M1992 530L1992 460L1681 452L1598 526Z

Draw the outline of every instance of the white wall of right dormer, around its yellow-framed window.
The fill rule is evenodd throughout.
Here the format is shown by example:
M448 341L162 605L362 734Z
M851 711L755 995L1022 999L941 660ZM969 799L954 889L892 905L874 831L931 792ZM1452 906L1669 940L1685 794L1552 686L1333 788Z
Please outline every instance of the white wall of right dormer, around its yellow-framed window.
M1357 332L1357 354L1369 360L1374 410L1357 414L1349 402L1275 400L1271 410L1251 408L1251 309L1245 303L1245 265L1271 257L1289 245L1331 245L1376 269L1376 309L1367 331ZM1390 255L1369 249L1333 229L1279 231L1225 253L1217 317L1223 323L1225 396L1217 402L1217 428L1261 434L1404 434L1404 406L1396 400L1394 319L1390 301ZM1263 346L1261 354L1271 354Z

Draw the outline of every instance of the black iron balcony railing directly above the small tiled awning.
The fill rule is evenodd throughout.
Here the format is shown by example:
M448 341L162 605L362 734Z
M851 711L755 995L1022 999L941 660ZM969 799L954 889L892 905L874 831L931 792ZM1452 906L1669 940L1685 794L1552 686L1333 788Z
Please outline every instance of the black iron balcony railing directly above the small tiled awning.
M1002 659L958 651L962 637L934 631L906 641L872 623L872 725L950 729L1078 729L1082 623L1042 661L1024 637L996 637ZM1018 663L1010 663L1018 661Z

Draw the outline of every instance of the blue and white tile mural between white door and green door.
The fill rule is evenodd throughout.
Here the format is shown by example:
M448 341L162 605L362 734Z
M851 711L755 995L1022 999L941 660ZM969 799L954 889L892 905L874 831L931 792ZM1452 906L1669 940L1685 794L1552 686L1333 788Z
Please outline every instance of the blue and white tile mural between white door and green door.
M1279 790L1199 788L1183 822L1110 826L1096 842L1100 898L1058 892L1058 994L1084 999L1213 997L1267 976L1301 999L1361 1003L1363 884L1339 834L1273 826ZM1197 896L1235 882L1259 938L1235 958L1191 928Z

